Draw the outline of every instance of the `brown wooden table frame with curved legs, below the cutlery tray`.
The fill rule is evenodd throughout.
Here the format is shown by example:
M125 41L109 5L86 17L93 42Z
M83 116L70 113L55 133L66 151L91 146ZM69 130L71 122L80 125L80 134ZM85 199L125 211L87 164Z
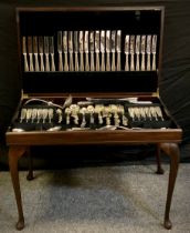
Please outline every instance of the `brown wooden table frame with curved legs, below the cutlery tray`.
M74 144L104 144L106 145L138 145L138 144L156 144L158 170L162 173L160 166L160 150L170 158L170 172L168 182L168 194L166 201L163 225L171 229L169 217L171 199L175 189L176 178L179 166L179 146L181 141L180 129L149 129L149 130L116 130L116 131L57 131L57 132L8 132L7 143L9 145L9 166L12 178L12 184L15 193L19 220L17 229L24 227L24 215L22 210L22 199L19 181L18 161L25 154L30 153L32 145L74 145ZM33 179L32 168L29 170L28 179Z

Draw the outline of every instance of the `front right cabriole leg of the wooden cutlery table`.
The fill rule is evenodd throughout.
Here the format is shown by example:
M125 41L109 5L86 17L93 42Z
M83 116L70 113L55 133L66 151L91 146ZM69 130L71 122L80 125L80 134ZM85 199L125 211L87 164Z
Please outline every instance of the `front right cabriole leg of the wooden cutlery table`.
M176 143L161 143L160 149L170 156L170 172L169 172L169 182L168 182L168 193L167 193L167 202L166 202L166 210L165 210L165 227L170 230L172 223L169 219L169 212L171 206L171 199L175 189L176 178L178 174L179 168L179 160L180 160L180 152L179 146Z

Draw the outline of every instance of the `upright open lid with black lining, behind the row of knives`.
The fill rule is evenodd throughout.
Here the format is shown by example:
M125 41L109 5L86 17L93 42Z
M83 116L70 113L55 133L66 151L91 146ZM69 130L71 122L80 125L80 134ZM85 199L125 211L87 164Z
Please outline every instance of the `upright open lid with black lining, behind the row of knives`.
M18 39L21 60L23 92L35 93L155 93L161 69L161 47L163 28L163 7L61 7L61 8L18 8ZM120 70L116 71L60 71L59 70L59 31L120 31L120 51L115 50L115 61L120 55ZM55 71L25 71L24 53L30 62L35 62L34 47L29 51L27 43L23 51L23 38L54 38ZM134 38L134 51L126 53L127 38ZM140 38L139 48L137 41ZM156 38L156 40L155 40ZM99 39L101 40L101 39ZM155 40L155 42L154 42ZM144 41L144 42L142 42ZM112 42L112 41L110 41ZM117 42L117 41L115 41ZM154 44L155 43L155 44ZM32 44L33 45L33 44ZM106 47L106 42L105 42ZM131 45L129 45L131 47ZM105 62L107 53L105 49ZM131 54L133 53L133 54ZM50 62L51 62L51 54ZM64 52L63 52L64 59ZM70 54L67 53L68 59ZM84 62L85 62L85 53ZM114 53L109 53L112 62ZM93 53L96 62L96 53ZM38 58L40 60L39 47ZM126 70L126 58L129 69ZM45 62L45 54L43 51ZM74 53L73 53L74 59ZM80 59L80 52L78 52ZM91 52L88 53L91 62ZM135 69L130 69L131 59ZM75 61L75 60L74 60ZM139 69L136 70L137 61ZM40 61L39 61L40 62ZM78 60L80 62L80 60ZM99 50L99 64L102 52ZM148 63L150 62L150 69ZM155 64L154 64L155 63ZM30 64L29 64L30 65ZM145 67L144 69L141 68ZM154 68L155 67L155 68Z

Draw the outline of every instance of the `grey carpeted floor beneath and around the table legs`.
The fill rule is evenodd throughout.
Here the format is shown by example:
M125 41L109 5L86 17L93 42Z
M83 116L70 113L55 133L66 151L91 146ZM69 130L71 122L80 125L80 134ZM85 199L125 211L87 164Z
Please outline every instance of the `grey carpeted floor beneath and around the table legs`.
M181 163L170 217L162 226L169 165L128 165L20 172L25 227L23 233L189 233L190 164ZM0 233L14 233L18 214L8 171L0 172Z

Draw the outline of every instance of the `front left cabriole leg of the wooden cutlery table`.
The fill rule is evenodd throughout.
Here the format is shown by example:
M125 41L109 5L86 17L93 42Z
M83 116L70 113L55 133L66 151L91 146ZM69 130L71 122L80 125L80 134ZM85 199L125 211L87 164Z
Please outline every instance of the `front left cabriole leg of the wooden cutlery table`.
M11 173L12 184L15 194L15 201L18 205L19 220L17 223L17 230L22 230L24 227L24 216L22 210L22 199L20 191L18 161L25 153L27 149L24 146L10 146L9 149L9 169Z

